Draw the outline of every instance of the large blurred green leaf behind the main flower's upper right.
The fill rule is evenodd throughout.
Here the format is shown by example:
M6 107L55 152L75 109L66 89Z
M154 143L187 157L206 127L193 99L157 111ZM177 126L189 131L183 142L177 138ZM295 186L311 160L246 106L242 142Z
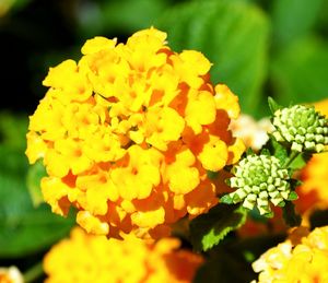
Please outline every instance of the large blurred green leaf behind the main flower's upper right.
M257 115L267 74L269 22L245 1L187 1L163 13L156 26L168 34L175 51L203 52L214 83L227 84L244 113Z

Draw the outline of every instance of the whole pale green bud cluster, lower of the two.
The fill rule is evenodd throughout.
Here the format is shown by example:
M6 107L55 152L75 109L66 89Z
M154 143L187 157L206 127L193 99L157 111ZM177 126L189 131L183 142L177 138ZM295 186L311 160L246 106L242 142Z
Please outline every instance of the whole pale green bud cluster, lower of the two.
M230 186L237 190L224 196L222 202L243 202L246 209L257 207L260 214L269 214L269 201L283 207L284 200L297 198L291 190L288 170L281 168L280 161L274 156L248 155L233 167L232 173L235 176L230 179Z

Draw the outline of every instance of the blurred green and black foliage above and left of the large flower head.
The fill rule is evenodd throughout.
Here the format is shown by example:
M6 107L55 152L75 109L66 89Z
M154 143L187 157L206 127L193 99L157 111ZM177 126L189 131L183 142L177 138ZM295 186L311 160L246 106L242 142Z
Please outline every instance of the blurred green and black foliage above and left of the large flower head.
M269 95L283 105L328 97L328 1L0 0L0 266L30 269L73 224L38 204L44 172L24 155L48 68L79 59L87 38L124 42L152 25L175 51L202 51L213 83L256 118L268 115Z

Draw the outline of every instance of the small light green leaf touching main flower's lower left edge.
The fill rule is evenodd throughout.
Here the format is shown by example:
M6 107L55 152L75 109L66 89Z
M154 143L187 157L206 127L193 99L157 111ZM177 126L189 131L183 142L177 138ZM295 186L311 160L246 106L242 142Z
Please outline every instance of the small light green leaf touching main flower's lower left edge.
M47 172L42 161L31 165L27 172L27 188L34 207L44 202L40 190L40 180L47 176Z

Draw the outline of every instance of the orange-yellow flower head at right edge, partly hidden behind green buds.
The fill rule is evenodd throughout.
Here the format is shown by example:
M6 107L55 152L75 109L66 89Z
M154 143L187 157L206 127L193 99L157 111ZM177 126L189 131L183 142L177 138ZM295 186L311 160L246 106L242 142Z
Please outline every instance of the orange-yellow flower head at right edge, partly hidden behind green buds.
M314 104L317 111L328 117L328 99ZM301 172L296 208L305 212L314 208L328 208L328 152L314 154Z

